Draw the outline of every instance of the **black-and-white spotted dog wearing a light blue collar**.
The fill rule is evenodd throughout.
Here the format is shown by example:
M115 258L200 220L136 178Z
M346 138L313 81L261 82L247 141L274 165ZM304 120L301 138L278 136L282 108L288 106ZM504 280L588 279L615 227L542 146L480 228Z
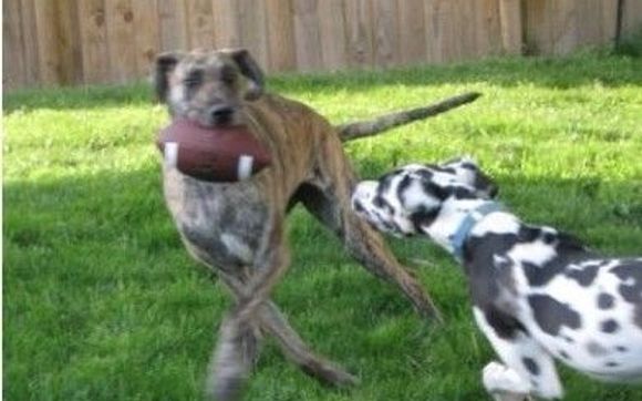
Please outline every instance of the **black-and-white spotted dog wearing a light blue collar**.
M642 258L607 258L525 224L495 193L458 160L362 182L352 205L377 229L426 235L464 265L475 319L501 360L483 372L496 400L561 398L555 359L603 381L641 380Z

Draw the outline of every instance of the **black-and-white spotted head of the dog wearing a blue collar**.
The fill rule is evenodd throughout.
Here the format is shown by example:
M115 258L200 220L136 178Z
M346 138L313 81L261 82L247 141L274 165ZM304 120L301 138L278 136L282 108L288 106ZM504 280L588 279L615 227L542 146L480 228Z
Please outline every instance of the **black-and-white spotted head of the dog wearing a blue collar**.
M361 182L352 194L352 208L381 232L412 236L426 233L447 199L496 195L493 181L463 157L438 165L411 164Z

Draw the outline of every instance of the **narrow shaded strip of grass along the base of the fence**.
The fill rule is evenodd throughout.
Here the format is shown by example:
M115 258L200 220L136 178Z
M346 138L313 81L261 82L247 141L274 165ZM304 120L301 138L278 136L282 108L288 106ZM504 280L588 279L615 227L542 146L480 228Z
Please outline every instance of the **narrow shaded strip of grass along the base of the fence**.
M346 71L318 74L277 74L268 86L298 96L306 93L369 92L385 85L435 86L488 83L499 86L534 84L570 89L599 83L603 86L642 85L642 58L577 53L565 58L498 58L451 65L421 65L392 70ZM154 102L151 85L86 86L23 90L3 95L3 111L37 109L93 109L148 105Z

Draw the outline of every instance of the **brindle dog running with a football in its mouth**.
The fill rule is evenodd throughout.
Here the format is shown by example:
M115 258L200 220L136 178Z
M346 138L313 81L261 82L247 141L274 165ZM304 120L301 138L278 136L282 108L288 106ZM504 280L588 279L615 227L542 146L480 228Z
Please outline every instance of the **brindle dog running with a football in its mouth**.
M335 385L356 382L314 354L269 298L289 265L284 219L298 203L336 233L372 274L398 286L421 313L439 319L431 298L380 235L351 212L356 181L341 142L441 113L477 94L335 128L310 107L265 93L263 74L246 50L161 54L154 80L173 117L205 126L246 124L272 160L270 167L231 184L198 181L164 166L166 202L187 249L236 298L213 357L211 397L239 398L261 333L273 336L306 373Z

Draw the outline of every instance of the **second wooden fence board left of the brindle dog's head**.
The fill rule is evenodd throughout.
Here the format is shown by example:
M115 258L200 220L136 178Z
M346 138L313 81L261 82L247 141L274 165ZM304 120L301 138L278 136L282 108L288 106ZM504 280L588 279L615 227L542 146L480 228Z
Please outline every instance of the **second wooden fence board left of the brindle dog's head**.
M110 75L112 82L127 82L136 76L136 35L131 0L105 2Z

